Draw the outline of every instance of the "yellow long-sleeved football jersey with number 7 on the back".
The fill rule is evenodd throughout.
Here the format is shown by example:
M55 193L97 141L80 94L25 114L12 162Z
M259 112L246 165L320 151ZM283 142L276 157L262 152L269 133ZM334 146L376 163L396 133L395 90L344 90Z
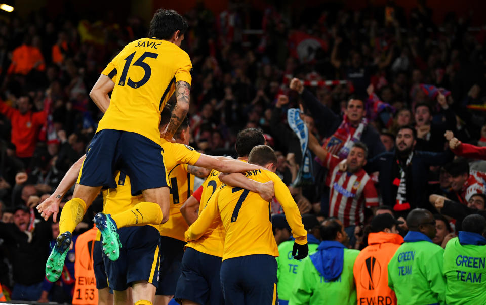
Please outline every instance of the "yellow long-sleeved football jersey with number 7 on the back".
M295 241L298 244L307 243L307 231L302 224L299 208L280 178L268 170L252 170L246 176L263 183L273 181L275 197L284 208ZM253 254L278 256L272 232L270 203L258 193L225 184L211 197L196 222L186 231L186 240L202 236L218 214L225 233L223 260Z

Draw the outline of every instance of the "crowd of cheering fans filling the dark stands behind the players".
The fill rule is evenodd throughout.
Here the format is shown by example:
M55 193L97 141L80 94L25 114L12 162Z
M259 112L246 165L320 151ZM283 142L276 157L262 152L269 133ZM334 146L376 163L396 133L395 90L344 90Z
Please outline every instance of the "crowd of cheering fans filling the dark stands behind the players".
M393 2L311 11L296 15L277 4L260 12L236 1L220 14L202 2L185 14L182 48L193 64L191 145L235 155L236 133L260 128L301 213L320 220L306 226L316 245L324 239L365 249L373 245L370 234L391 232L382 225L387 221L396 226L391 233L422 232L443 248L459 231L484 235L480 220L466 221L486 216L480 161L486 154L468 144L486 145L484 30L471 30L454 13L434 24L425 1L409 16ZM0 283L4 293L14 288L12 299L35 286L43 291L39 300L63 301L72 281L44 279L56 224L39 221L32 208L52 194L93 137L102 113L89 92L100 72L146 29L135 17L108 23L46 16L0 22ZM294 108L300 115L291 117ZM296 132L304 128L299 122L307 136ZM434 215L436 234L423 228L431 214L411 217L415 208ZM282 213L278 202L272 211ZM374 225L381 212L394 218ZM91 227L90 218L80 231ZM274 226L277 242L289 238L283 227ZM329 247L336 245L320 251ZM346 265L358 252L345 250ZM68 259L74 262L73 255ZM309 262L303 270L312 270ZM352 277L353 264L346 268L343 277ZM70 267L66 273L74 276ZM309 279L295 268L292 273L301 282L319 278L313 271ZM321 273L320 283L341 273L333 275Z

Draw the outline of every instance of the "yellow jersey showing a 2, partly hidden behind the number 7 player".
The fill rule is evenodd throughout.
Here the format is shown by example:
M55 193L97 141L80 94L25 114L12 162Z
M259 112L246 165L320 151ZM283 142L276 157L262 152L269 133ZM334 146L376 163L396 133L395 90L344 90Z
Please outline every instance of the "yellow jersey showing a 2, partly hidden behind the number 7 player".
M203 183L203 193L201 193L201 200L199 202L199 215L203 212L209 199L223 184L218 178L219 171L212 170ZM186 245L201 253L223 257L224 248L224 228L219 215L213 220L204 236L191 241Z

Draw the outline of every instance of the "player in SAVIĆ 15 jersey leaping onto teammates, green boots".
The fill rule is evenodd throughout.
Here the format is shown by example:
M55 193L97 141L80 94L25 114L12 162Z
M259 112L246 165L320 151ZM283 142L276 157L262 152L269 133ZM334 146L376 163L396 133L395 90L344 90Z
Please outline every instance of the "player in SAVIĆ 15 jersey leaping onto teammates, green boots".
M71 243L71 232L102 187L114 188L114 172L131 177L132 194L157 203L160 223L169 218L169 183L160 147L160 111L174 93L173 119L164 132L172 139L189 108L192 64L180 49L187 22L173 10L158 10L150 22L149 37L129 43L100 75L90 96L106 110L98 124L80 172L73 198L61 212L59 235L48 263L58 270ZM112 81L116 75L116 82ZM108 93L112 91L111 98ZM106 253L119 253L116 227L103 219ZM103 232L102 232L103 234ZM61 268L62 269L62 268Z

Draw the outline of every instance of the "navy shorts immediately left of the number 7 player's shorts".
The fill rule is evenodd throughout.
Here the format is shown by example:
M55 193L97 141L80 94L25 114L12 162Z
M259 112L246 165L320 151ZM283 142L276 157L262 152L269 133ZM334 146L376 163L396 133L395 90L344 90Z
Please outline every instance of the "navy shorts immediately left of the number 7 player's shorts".
M176 301L185 299L198 304L223 305L220 269L221 257L186 248L174 295Z

